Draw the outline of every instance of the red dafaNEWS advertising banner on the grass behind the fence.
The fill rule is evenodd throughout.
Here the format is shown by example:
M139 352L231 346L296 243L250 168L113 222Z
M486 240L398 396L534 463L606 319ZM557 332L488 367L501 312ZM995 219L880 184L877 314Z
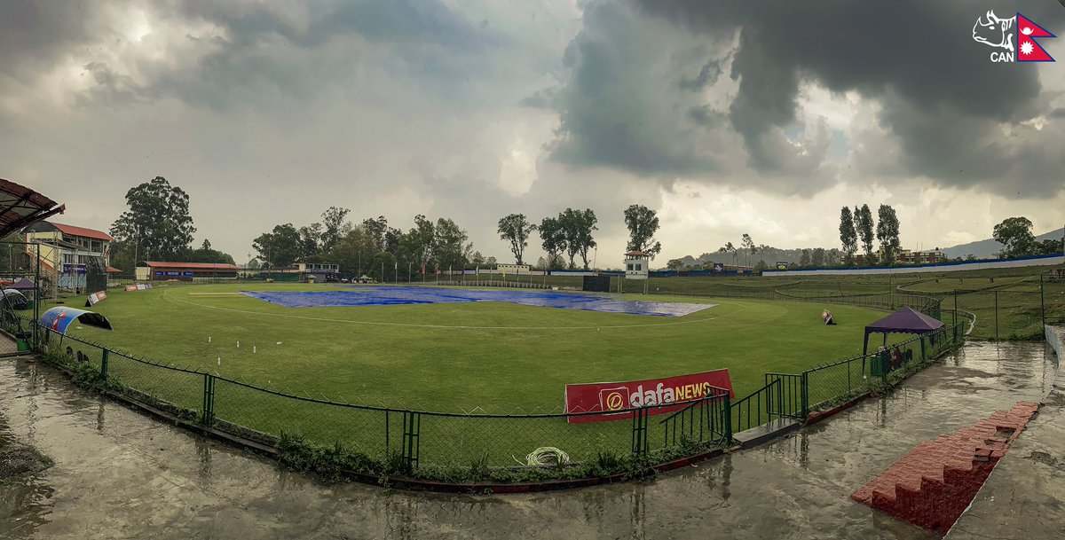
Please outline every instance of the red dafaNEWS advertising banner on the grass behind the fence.
M678 410L686 403L701 400L708 393L712 393L710 387L728 390L728 396L734 396L732 378L728 376L727 369L628 383L566 385L567 412L603 411L602 415L569 417L567 421L571 424L583 424L623 420L633 418L630 409L654 405L676 404L654 407L648 411L651 415Z

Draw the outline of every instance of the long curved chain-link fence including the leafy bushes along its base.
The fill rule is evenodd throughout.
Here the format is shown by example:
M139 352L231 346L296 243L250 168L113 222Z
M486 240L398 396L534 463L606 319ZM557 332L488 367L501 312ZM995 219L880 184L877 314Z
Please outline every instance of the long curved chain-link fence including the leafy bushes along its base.
M79 384L265 449L298 470L410 487L499 489L641 476L731 448L735 434L772 420L804 422L962 343L966 321L953 311L938 315L948 324L933 334L799 374L767 373L765 387L738 400L710 388L698 401L622 409L602 422L580 422L602 411L471 415L331 401L137 358L39 326L34 349Z

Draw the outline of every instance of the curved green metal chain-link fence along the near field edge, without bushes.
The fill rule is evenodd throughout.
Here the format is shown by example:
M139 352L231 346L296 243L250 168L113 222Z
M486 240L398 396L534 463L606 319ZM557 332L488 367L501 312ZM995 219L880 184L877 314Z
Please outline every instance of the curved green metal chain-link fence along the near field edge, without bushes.
M965 335L957 326L967 321L954 319L953 325L889 349L914 351L912 364L887 366L883 354L859 356L799 374L767 373L763 388L736 401L727 390L712 389L694 402L611 411L632 422L580 422L603 411L473 415L338 402L138 358L43 326L33 345L50 361L91 374L95 384L185 421L273 446L295 435L316 446L342 448L357 456L349 462L370 472L398 462L419 475L465 470L473 461L527 466L526 454L544 446L562 449L572 462L591 462L604 455L665 460L677 457L676 451L730 445L735 433L779 419L802 422L814 410L887 382L889 368L914 369L956 347ZM18 323L23 334L34 325L26 319ZM658 414L668 416L651 421Z

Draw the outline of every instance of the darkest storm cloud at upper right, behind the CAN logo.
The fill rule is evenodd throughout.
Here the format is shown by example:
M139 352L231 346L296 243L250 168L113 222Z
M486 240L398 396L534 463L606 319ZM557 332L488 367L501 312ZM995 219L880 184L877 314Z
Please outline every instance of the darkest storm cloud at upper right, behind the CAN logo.
M986 183L1014 195L1023 184L1036 196L1061 187L1062 131L1056 115L1039 132L1020 124L1046 109L1038 66L994 64L971 28L988 9L1015 10L1061 29L1065 10L1052 2L984 5L971 1L835 2L788 0L640 0L693 32L740 32L732 77L739 91L730 119L743 136L752 165L779 167L775 130L796 121L804 80L833 91L856 90L881 100L881 123L902 147L904 170L952 185ZM1060 32L1059 32L1060 33ZM1054 40L1047 39L1054 51ZM1056 48L1061 50L1061 48ZM1004 135L1002 125L1013 125ZM872 171L883 172L883 171ZM1009 181L1003 183L1003 181Z

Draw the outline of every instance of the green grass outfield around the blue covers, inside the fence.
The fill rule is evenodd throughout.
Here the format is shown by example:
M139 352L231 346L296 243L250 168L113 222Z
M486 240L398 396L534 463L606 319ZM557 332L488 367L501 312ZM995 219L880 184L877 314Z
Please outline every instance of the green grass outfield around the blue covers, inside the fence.
M625 298L719 305L666 318L494 302L290 308L244 296L197 294L334 288L116 290L94 308L114 332L70 333L148 359L315 396L437 411L552 410L562 405L568 383L720 368L730 370L736 394L746 395L764 384L767 371L798 373L861 353L863 327L884 316L831 306L838 325L825 326L820 304L661 294Z

